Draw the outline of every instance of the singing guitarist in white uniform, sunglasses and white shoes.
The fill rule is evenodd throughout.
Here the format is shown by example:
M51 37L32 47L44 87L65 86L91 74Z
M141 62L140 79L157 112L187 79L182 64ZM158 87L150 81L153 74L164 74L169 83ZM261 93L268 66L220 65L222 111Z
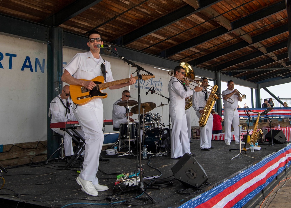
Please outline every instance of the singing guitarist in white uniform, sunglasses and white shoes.
M110 63L104 61L100 56L100 48L97 47L98 44L103 45L102 35L97 31L90 31L87 43L88 47L90 47L90 51L76 54L68 65L65 66L65 71L62 75L63 82L81 85L92 90L96 84L91 80L97 76L103 76L105 82L114 81ZM102 64L105 66L101 66ZM119 89L132 85L135 82L135 78L131 76L129 82L110 86L109 89ZM92 99L84 105L78 105L73 112L84 131L84 138L86 141L83 170L79 174L79 177L77 177L77 183L81 185L82 191L85 191L89 195L97 196L98 191L106 191L108 189L107 186L100 185L96 177L100 152L104 140L102 131L102 99Z

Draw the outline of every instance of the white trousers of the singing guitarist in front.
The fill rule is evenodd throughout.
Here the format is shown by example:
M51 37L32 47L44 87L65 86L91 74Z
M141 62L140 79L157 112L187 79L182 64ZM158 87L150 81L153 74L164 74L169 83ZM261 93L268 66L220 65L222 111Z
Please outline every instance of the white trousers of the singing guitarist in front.
M78 105L73 112L81 124L86 142L83 170L81 170L79 177L86 181L92 181L93 184L99 184L96 174L104 141L102 101L101 99L93 99L86 105Z

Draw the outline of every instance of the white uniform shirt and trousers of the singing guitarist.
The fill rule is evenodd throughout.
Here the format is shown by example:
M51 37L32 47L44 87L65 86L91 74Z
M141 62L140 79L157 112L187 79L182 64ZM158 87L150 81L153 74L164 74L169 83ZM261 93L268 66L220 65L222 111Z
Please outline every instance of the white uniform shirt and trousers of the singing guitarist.
M92 80L97 76L103 76L101 64L105 64L106 81L114 81L111 73L111 66L108 61L93 57L91 51L77 53L74 58L65 66L65 69L77 79ZM74 105L75 108L75 105ZM85 105L78 105L73 110L79 121L85 138L85 155L83 170L79 177L86 181L92 181L94 185L99 184L96 173L99 167L99 158L104 141L103 128L103 104L102 99L92 99Z

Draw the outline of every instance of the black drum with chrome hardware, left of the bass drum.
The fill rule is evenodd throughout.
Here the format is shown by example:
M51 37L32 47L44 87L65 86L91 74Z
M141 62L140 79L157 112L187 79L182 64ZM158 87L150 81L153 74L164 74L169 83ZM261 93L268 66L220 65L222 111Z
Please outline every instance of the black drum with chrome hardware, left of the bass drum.
M128 125L129 125L129 135L128 135ZM138 122L120 123L119 124L119 138L124 140L136 140L137 132L139 128ZM128 138L129 136L129 138Z

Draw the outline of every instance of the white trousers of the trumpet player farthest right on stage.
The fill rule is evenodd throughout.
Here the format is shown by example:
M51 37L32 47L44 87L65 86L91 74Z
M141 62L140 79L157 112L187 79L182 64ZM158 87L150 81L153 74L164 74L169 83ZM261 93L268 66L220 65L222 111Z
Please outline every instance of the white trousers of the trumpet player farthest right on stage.
M239 114L237 109L236 110L228 110L227 108L224 109L223 113L224 117L224 142L231 142L232 134L230 133L231 124L233 124L233 130L235 133L235 142L239 142Z

